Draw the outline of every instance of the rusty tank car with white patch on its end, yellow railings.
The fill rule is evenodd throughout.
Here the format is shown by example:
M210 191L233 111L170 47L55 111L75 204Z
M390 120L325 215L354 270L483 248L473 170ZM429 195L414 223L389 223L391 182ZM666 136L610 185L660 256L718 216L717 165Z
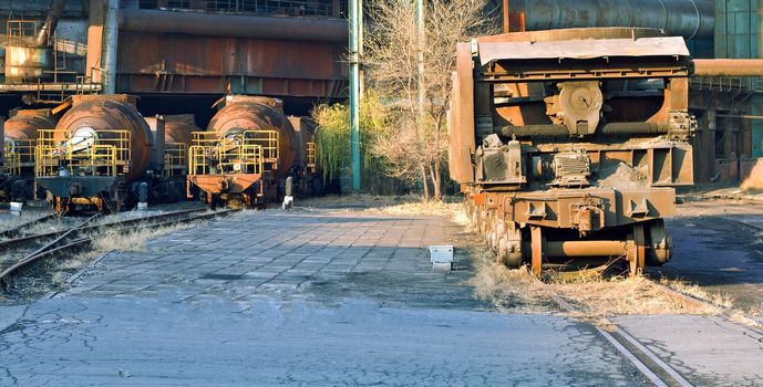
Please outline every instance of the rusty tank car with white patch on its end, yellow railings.
M56 211L118 211L182 197L183 184L164 178L164 121L154 136L135 102L124 94L73 96L55 129L40 130L35 180Z

